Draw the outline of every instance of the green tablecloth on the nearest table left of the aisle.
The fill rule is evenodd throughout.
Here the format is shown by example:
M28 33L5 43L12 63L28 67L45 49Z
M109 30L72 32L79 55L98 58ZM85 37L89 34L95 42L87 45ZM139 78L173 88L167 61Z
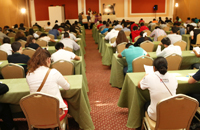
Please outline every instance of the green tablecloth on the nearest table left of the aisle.
M90 104L86 87L81 75L66 76L70 83L70 90L61 89L62 97L68 102L69 114L79 124L81 129L93 130L94 125L90 116ZM30 92L26 79L4 79L0 80L8 85L9 91L0 96L1 103L18 105L22 97Z

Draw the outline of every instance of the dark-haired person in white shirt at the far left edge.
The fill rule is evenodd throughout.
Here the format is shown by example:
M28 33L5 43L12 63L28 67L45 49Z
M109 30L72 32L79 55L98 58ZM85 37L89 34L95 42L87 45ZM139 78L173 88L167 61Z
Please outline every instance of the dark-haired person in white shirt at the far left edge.
M4 37L3 45L0 46L0 50L5 51L8 55L12 55L12 48L8 37Z

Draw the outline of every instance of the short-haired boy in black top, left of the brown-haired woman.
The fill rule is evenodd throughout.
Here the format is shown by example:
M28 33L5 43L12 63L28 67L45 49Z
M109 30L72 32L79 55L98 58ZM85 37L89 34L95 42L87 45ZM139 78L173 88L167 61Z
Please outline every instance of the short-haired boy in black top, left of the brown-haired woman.
M22 45L20 42L13 42L11 44L13 54L7 57L8 63L24 63L27 64L30 57L22 54ZM27 72L27 65L22 65L24 67L25 73Z

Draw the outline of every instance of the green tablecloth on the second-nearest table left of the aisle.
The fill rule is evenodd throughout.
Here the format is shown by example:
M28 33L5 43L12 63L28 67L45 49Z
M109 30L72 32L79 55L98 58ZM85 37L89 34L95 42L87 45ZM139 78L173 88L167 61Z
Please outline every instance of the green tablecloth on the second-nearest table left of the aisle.
M0 64L0 69L8 64L7 60L2 60L0 61L0 63L2 62L2 64ZM80 56L80 60L76 61L76 60L72 60L72 62L74 63L74 68L75 68L75 75L83 75L83 83L84 86L86 87L87 92L89 92L88 89L88 82L87 82L87 77L85 74L85 60L82 58L82 56Z

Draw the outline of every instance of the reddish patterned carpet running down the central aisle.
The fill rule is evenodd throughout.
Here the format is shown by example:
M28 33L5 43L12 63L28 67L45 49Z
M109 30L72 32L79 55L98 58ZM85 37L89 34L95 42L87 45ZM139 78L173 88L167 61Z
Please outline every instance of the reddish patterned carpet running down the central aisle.
M128 109L120 108L117 102L120 89L109 84L111 68L103 66L92 31L86 30L86 76L88 80L88 97L91 106L91 117L95 130L133 130L126 127ZM19 130L26 130L26 122L16 122ZM79 130L78 124L69 116L70 130Z

